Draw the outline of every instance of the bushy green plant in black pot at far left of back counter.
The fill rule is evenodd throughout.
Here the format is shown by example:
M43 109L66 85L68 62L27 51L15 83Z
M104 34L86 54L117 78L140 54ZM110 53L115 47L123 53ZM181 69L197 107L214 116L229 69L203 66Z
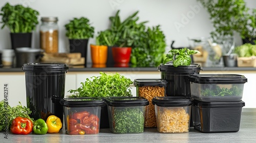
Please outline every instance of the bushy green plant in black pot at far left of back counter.
M38 24L39 12L23 5L12 6L6 3L0 15L2 15L2 29L8 27L10 30L12 49L31 47L32 31Z

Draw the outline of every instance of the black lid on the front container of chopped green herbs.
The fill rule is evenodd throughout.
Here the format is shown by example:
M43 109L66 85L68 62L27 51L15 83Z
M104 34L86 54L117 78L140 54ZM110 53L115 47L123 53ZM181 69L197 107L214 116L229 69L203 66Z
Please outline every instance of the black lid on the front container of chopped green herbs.
M107 97L104 101L113 107L146 106L149 104L148 100L142 97Z

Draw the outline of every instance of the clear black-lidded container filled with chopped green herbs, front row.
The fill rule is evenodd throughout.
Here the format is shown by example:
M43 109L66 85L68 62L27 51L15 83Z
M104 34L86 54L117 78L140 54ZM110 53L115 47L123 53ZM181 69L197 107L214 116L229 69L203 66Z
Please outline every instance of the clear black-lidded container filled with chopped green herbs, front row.
M107 97L110 131L116 134L144 132L145 107L148 100L140 97Z

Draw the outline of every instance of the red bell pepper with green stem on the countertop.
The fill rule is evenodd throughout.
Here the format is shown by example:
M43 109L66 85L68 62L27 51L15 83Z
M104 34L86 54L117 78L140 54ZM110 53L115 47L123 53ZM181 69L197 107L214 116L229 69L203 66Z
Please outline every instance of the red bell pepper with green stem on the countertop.
M33 122L29 118L16 117L12 121L11 132L14 134L29 134L33 130Z

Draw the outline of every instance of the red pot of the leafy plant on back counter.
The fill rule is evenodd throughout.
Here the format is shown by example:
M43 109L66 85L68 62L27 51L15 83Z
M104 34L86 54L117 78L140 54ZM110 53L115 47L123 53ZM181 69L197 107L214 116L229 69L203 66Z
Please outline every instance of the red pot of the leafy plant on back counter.
M129 63L132 47L112 47L112 54L115 63Z

